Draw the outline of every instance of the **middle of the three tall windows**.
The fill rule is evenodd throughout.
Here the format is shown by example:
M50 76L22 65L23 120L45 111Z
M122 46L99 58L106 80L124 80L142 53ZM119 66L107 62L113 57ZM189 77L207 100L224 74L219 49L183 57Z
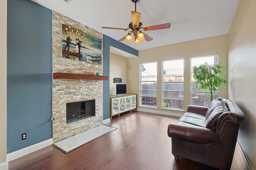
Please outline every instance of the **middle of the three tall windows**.
M162 107L184 109L184 60L163 61Z

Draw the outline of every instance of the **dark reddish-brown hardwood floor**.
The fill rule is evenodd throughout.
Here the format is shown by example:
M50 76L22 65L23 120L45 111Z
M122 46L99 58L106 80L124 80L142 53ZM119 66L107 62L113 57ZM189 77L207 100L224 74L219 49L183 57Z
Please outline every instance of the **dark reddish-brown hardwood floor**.
M9 162L9 170L214 170L171 153L169 123L178 117L145 112L114 116L106 125L117 127L86 145L64 154L48 146ZM231 170L247 170L236 147Z

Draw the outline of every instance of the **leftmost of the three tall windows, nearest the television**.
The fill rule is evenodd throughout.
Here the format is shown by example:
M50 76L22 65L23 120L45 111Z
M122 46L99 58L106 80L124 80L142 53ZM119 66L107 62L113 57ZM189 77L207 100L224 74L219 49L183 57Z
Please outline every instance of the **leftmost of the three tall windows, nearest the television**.
M140 64L140 106L157 106L157 63Z

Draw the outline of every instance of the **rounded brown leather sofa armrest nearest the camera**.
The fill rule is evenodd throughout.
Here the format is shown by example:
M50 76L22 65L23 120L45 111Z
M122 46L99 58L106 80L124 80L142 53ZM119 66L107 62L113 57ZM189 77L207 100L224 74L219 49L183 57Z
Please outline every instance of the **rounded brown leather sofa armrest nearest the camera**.
M216 143L220 136L212 129L170 123L168 137L196 144Z

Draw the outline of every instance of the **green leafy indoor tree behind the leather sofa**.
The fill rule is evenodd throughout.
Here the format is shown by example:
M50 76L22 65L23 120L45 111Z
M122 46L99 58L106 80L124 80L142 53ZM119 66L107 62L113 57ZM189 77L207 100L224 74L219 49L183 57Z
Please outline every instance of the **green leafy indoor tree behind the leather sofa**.
M212 93L216 92L221 84L224 87L228 82L222 77L222 70L226 73L226 69L220 64L208 64L207 62L199 66L193 66L194 79L196 88L210 92L206 96L212 102Z

